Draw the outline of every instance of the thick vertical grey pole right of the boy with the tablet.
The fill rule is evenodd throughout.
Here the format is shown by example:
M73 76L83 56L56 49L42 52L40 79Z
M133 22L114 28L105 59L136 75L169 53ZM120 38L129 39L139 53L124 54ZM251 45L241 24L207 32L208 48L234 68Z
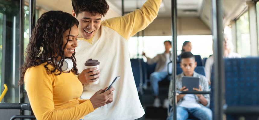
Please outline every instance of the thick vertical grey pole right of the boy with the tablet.
M214 50L214 117L223 119L225 103L225 71L223 61L223 0L212 0L212 35Z

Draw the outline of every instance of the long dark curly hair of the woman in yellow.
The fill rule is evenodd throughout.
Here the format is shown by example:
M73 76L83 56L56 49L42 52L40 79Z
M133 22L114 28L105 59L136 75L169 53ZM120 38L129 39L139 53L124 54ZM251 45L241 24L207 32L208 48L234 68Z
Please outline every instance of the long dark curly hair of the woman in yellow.
M32 31L30 42L26 49L26 57L24 65L21 67L21 78L18 85L23 84L24 74L30 67L35 67L42 63L47 63L44 67L48 74L54 73L60 75L62 73L61 67L63 66L64 59L67 58L64 55L64 49L68 41L63 46L63 33L76 25L78 27L78 20L69 13L62 11L49 11L41 15L38 19L35 28ZM42 47L42 51L40 50ZM75 52L69 57L74 65L72 72L78 75L78 69L76 67ZM54 61L61 57L61 60ZM48 60L50 58L50 60ZM47 66L50 63L53 64L54 69L49 69ZM58 65L61 63L61 66Z

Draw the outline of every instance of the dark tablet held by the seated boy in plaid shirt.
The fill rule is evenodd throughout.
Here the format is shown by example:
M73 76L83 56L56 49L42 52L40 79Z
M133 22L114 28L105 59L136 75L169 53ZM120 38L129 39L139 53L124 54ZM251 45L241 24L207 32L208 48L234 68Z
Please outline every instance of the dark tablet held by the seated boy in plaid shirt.
M194 91L193 88L199 89L199 81L198 77L191 77L191 76L183 76L182 77L182 87L186 87L188 91Z

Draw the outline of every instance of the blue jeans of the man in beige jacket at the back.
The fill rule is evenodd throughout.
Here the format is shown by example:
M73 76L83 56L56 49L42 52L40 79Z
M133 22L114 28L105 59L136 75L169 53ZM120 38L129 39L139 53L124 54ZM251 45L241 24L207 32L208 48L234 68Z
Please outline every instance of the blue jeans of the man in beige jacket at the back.
M152 86L152 92L154 96L159 95L158 82L162 81L167 77L167 72L153 72L150 74L150 84Z

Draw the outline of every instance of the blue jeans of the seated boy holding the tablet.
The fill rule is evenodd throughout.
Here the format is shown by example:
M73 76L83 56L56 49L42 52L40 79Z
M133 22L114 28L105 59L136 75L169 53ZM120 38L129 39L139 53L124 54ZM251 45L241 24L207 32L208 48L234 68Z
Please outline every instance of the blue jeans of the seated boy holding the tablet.
M197 108L185 108L176 107L177 120L186 120L189 116L192 116L198 120L212 120L212 111L207 107L197 107ZM173 119L173 112L166 120Z

